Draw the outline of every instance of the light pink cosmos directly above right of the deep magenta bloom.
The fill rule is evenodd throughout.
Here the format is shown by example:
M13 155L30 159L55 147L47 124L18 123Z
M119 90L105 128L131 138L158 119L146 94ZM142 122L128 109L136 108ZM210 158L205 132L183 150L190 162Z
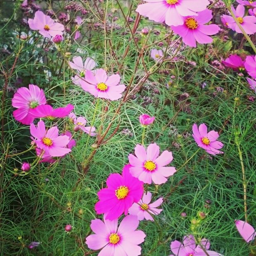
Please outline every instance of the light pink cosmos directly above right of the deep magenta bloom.
M166 183L166 177L176 172L174 167L166 167L173 160L173 155L167 150L160 156L159 153L160 148L156 143L150 144L147 151L142 145L137 145L135 156L133 154L128 156L131 175L147 184L151 184L152 181L155 184Z

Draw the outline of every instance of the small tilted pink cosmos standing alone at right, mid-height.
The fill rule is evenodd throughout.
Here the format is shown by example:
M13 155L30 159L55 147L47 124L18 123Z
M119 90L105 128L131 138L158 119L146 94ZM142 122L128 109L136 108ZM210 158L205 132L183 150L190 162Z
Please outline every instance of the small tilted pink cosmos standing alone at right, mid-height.
M205 149L207 153L212 155L223 154L222 151L218 150L223 147L223 143L217 140L219 135L216 131L211 130L207 133L207 126L204 123L199 125L199 129L194 123L192 130L192 136L199 147Z

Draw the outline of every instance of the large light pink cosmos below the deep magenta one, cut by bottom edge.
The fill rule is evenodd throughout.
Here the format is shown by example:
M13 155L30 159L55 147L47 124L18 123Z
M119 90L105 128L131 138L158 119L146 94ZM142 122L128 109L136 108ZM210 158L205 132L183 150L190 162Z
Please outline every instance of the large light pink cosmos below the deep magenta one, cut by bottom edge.
M91 229L95 233L86 237L85 244L92 250L99 250L98 256L138 256L141 247L138 244L144 242L145 233L136 230L139 220L136 216L126 216L118 228L118 219L92 220Z

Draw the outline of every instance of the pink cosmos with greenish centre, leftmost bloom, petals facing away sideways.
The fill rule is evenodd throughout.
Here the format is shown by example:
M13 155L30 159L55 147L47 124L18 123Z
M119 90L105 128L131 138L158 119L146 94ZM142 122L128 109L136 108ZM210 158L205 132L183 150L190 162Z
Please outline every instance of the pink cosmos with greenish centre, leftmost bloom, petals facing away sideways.
M33 84L28 85L28 88L19 88L12 98L12 107L17 108L13 112L14 118L26 125L31 124L34 120L30 113L31 110L38 105L46 104L43 90L40 90L37 85Z

